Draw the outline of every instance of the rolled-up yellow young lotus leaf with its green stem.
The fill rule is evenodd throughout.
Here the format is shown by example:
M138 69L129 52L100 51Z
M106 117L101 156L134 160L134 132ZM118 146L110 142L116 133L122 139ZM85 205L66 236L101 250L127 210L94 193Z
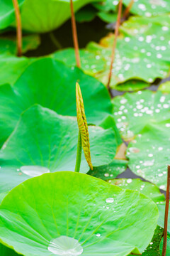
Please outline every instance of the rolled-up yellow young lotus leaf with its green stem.
M77 82L76 85L76 100L77 100L77 123L79 127L79 138L77 145L77 161L75 171L79 172L81 164L81 146L84 150L84 156L91 170L93 165L91 164L91 153L90 153L90 142L89 142L89 131L86 122L86 114L84 111L84 102L81 95L81 89Z

